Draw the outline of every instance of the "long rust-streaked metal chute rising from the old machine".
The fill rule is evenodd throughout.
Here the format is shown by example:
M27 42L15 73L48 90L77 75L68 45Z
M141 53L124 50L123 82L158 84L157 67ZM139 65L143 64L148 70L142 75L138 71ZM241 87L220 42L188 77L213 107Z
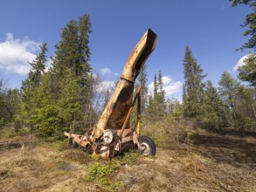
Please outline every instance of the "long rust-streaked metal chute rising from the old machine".
M132 105L135 79L147 58L156 46L156 34L150 29L142 36L135 49L130 54L121 73L121 79L117 84L112 97L100 116L100 120L93 128L91 141L100 138L107 128L121 129Z

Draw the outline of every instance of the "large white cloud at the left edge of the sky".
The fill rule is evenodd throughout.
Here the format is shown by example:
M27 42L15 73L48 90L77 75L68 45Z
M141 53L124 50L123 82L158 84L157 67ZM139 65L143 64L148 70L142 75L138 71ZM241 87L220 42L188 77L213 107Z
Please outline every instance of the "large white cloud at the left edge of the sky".
M40 50L41 43L24 39L15 39L8 32L4 42L0 42L0 69L6 72L16 72L17 74L27 74L31 62L36 57L36 52Z

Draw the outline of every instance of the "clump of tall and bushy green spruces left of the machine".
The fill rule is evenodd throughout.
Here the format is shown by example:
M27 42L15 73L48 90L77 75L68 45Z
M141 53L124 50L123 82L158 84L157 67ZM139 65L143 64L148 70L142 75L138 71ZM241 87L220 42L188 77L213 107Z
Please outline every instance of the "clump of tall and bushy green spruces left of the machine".
M31 134L43 138L60 136L84 120L86 110L92 111L90 27L88 15L66 24L49 71L45 72L46 44L30 63L31 71L22 84L22 102L15 117L31 128Z

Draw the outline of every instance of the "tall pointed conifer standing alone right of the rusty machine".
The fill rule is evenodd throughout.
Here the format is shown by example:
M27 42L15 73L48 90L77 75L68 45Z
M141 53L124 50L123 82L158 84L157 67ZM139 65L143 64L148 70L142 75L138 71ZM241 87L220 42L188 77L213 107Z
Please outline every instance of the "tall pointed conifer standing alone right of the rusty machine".
M201 108L204 99L203 69L197 65L197 60L193 57L190 47L186 47L183 59L183 115L184 117L195 118L203 113Z

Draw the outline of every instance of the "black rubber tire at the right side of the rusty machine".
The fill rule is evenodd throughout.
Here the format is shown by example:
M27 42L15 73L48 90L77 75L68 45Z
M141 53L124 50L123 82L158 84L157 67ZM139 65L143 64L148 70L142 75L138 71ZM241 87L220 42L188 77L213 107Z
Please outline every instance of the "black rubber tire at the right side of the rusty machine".
M142 154L152 155L152 156L156 154L155 141L153 141L150 137L141 136L139 137L139 142L142 145L142 147L146 147L144 151L141 151Z

